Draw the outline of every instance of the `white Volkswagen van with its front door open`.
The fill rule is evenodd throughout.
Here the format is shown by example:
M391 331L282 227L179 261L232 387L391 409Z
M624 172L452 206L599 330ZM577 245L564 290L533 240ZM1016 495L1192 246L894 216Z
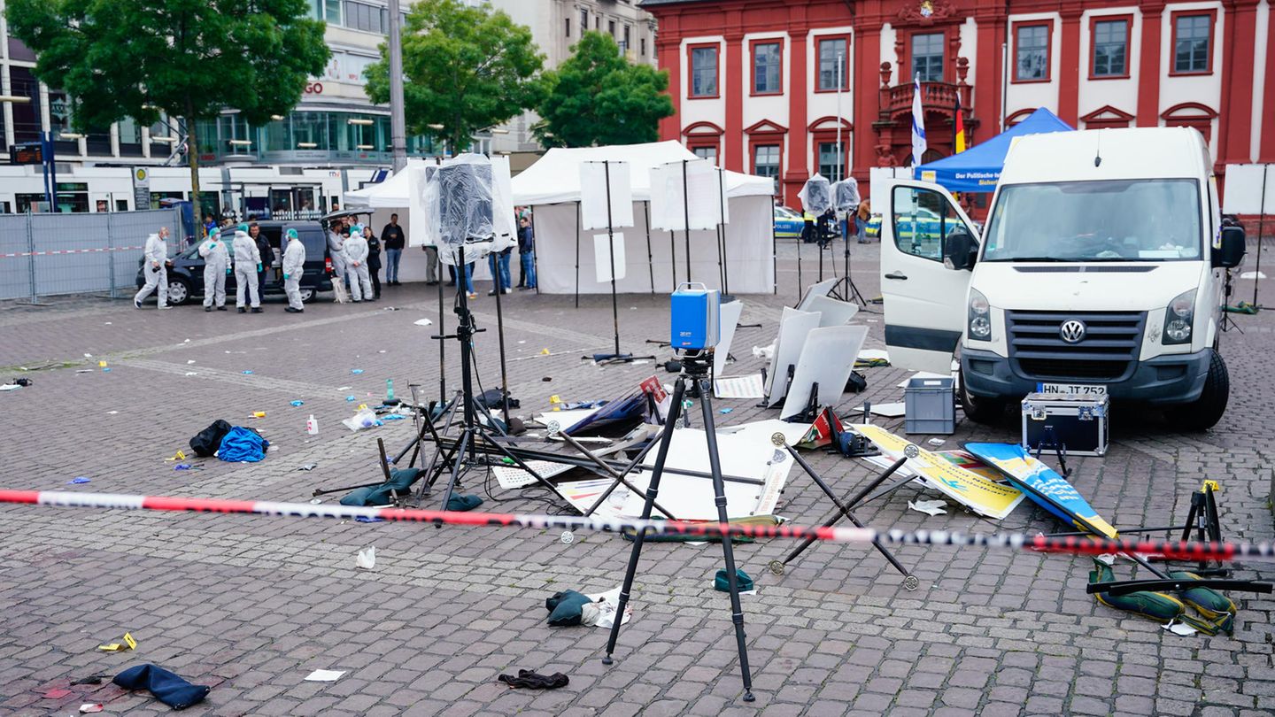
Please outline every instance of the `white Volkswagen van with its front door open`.
M890 361L947 374L959 343L970 418L1038 387L1164 406L1186 429L1221 418L1223 281L1244 235L1221 227L1195 129L1023 137L980 241L938 185L892 180L872 199Z

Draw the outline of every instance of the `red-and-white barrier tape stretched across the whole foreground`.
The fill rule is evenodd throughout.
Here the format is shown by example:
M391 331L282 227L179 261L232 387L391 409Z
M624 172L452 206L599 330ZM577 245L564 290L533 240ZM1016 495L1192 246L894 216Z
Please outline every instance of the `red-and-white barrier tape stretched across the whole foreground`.
M892 545L950 545L1102 555L1107 552L1140 552L1163 555L1170 560L1237 560L1275 559L1275 546L1269 542L1186 542L1144 538L1098 538L1091 536L1028 536L1023 533L983 535L947 531L875 531L872 528L752 526L734 523L686 523L681 521L641 521L636 518L604 518L598 515L530 515L514 513L458 513L451 510L419 510L400 508L361 508L340 504L274 503L269 500L224 500L215 498L171 498L125 495L111 492L73 492L0 490L0 503L47 505L52 508L115 508L125 510L177 510L196 513L251 513L259 515L291 515L298 518L381 518L450 526L520 527L566 531L641 531L646 535L681 535L703 537L779 537L815 538L830 542Z

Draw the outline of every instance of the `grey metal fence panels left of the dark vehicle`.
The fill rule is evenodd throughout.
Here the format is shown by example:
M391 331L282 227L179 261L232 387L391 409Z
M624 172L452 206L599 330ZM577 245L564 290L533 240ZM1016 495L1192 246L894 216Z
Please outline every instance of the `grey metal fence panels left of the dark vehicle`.
M0 300L135 291L147 236L168 227L168 255L185 246L177 209L0 216Z

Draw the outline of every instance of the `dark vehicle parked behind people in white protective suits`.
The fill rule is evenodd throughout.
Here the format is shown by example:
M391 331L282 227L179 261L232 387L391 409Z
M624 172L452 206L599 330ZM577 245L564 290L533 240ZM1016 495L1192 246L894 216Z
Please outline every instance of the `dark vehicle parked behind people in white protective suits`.
M332 260L328 258L328 240L319 222L258 222L261 233L274 248L275 258L283 259L283 232L297 230L300 241L306 248L305 272L301 274L301 301L310 301L315 292L332 291ZM233 228L231 230L233 231ZM229 244L232 236L226 237ZM142 268L144 258L138 262L138 288L145 286L145 272ZM265 273L266 296L283 295L283 272L270 267ZM184 249L172 258L168 267L168 304L180 306L195 296L204 295L204 258L199 255L199 245ZM226 277L226 296L233 300L235 274ZM263 297L264 299L264 297Z

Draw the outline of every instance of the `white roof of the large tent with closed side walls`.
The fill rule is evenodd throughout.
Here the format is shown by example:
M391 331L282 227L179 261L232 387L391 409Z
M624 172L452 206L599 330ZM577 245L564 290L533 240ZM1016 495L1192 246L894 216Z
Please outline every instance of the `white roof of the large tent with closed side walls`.
M613 159L629 162L629 180L634 200L650 199L650 170L668 162L697 159L676 140L611 147L555 147L513 180L514 204L557 204L580 200L580 163ZM769 177L725 172L727 196L770 196L774 181Z

